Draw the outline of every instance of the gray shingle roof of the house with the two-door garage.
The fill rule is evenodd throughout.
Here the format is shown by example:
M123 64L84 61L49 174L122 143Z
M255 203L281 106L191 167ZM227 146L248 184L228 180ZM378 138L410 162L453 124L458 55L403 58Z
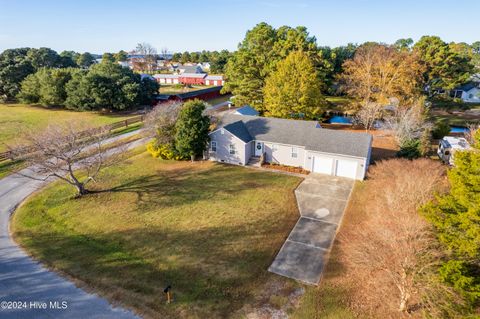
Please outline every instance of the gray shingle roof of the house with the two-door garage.
M368 157L372 141L370 134L318 128L316 121L229 114L220 120L220 126L244 142L259 140L298 145L311 151L364 158Z

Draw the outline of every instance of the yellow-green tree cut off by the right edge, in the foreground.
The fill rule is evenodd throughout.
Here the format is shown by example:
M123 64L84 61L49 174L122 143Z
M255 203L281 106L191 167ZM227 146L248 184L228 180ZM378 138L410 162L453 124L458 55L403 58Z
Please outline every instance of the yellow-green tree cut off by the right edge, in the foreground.
M473 149L455 152L448 171L450 189L423 207L424 216L435 227L448 258L440 269L444 281L468 298L480 301L480 131Z

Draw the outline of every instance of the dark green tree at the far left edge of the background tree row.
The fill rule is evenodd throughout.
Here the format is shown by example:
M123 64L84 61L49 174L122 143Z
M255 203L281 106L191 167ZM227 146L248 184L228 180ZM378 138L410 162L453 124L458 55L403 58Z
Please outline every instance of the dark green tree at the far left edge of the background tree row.
M35 72L27 54L29 48L8 49L0 54L0 100L11 100L20 91L20 83Z

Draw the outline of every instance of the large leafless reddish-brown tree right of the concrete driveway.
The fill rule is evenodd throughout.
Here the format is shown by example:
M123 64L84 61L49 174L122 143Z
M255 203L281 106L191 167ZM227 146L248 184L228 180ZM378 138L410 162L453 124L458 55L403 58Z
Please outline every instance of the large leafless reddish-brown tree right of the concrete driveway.
M383 161L371 169L365 185L368 198L363 198L365 217L341 238L350 272L363 285L359 307L433 313L442 301L430 297L454 295L435 278L441 250L417 212L442 178L441 164L427 159Z

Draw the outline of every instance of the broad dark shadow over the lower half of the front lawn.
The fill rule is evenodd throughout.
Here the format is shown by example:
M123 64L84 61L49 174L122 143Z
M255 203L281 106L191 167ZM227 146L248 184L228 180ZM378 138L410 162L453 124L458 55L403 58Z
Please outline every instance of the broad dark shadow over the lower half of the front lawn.
M178 316L181 310L193 317L228 317L268 279L274 250L268 238L280 231L268 223L95 235L24 231L17 236L41 261L141 313ZM260 228L252 232L252 227ZM239 241L244 246L239 248ZM163 303L166 285L172 285L176 299L168 307Z

